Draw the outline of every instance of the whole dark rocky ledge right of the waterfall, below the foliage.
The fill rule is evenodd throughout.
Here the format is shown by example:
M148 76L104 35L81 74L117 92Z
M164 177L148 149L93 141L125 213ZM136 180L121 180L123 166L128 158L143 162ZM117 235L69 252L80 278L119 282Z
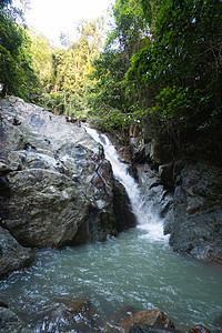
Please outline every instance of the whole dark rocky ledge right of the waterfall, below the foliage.
M222 263L222 169L202 155L173 158L164 142L143 133L141 143L137 135L129 142L132 164L148 200L155 196L170 244L178 252Z

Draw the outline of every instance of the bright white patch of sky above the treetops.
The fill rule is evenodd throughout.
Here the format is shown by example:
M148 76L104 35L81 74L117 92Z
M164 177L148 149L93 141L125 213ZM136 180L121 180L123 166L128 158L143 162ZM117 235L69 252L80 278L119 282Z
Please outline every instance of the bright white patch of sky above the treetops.
M114 0L31 0L26 13L29 27L59 44L60 32L68 32L71 40L75 38L77 22L105 16L107 9Z

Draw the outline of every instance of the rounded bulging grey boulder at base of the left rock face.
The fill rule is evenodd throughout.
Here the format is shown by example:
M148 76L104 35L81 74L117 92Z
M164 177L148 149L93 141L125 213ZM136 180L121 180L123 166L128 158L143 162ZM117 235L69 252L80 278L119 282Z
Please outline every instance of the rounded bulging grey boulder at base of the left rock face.
M73 191L68 176L42 169L11 172L7 180L10 201L2 212L4 216L8 210L4 225L23 246L72 243L89 216L89 203L78 184Z

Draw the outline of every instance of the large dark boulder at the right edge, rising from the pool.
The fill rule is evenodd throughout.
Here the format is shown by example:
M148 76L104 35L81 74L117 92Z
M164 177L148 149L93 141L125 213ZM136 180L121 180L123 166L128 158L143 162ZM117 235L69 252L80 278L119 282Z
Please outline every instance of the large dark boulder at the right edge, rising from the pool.
M183 165L165 233L175 251L222 263L222 170L203 162Z

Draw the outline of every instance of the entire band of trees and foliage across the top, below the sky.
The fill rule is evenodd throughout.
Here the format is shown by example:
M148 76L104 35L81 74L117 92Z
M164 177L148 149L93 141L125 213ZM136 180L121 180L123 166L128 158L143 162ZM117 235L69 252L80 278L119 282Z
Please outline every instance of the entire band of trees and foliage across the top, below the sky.
M103 49L101 19L54 49L17 23L10 2L0 8L3 93L105 130L137 123L173 153L221 153L220 0L117 0Z

